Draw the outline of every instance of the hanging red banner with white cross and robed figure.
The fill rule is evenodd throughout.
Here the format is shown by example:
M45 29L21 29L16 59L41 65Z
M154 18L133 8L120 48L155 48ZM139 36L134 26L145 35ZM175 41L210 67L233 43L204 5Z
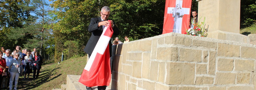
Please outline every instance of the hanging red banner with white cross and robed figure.
M189 29L192 0L166 0L163 33L184 34Z

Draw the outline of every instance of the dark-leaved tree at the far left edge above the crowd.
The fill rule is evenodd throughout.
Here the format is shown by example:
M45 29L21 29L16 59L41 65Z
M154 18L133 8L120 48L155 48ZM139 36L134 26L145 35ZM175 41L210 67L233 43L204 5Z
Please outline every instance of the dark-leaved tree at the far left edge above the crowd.
M23 38L14 39L8 37L12 29L23 28L23 23L31 21L30 11L21 6L28 6L23 0L0 0L0 45L8 49L15 48L15 45L23 46Z

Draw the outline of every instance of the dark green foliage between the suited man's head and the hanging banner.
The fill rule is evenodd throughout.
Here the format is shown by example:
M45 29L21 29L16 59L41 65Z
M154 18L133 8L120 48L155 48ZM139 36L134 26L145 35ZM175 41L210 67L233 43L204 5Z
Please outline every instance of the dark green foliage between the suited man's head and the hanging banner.
M117 24L121 39L128 36L138 40L160 35L163 31L165 0L121 0L110 8L109 18Z

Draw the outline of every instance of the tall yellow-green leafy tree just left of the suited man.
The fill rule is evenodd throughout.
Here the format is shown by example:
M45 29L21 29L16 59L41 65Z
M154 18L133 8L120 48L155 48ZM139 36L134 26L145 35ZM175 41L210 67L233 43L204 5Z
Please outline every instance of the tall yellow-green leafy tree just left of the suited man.
M55 9L52 11L54 15L53 19L58 20L53 25L53 33L55 37L55 58L61 60L61 52L65 51L64 43L66 41L79 42L81 47L84 47L87 43L90 33L87 31L87 27L92 17L98 17L98 0L56 0L51 5ZM65 53L70 55L69 57L76 56L81 53L83 48L77 49L79 54ZM80 50L80 51L78 51Z

